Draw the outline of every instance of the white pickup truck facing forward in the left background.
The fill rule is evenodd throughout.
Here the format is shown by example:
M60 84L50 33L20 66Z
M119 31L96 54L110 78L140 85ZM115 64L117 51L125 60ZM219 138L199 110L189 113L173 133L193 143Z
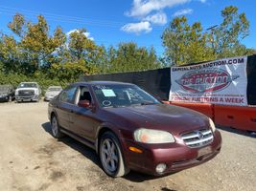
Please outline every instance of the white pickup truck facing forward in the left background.
M41 88L36 82L21 82L16 91L15 99L17 102L22 101L39 101Z

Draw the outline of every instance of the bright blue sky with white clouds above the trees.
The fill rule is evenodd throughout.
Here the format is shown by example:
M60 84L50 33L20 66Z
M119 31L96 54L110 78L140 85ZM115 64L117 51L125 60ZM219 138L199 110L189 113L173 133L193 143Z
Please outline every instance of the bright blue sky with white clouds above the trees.
M86 35L98 45L131 41L153 46L162 55L161 35L175 16L186 15L190 24L199 21L206 30L221 24L221 10L230 5L245 12L250 34L243 43L256 49L254 0L1 0L0 31L11 33L7 25L15 12L32 22L42 14L51 32L58 26L66 33L85 28Z

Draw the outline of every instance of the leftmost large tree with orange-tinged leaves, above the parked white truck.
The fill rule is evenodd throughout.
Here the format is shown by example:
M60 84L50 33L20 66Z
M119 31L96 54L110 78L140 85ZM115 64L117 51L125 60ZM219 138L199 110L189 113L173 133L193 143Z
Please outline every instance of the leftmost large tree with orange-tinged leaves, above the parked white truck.
M65 34L60 28L50 35L45 18L38 15L37 19L37 23L32 23L26 21L22 14L13 16L8 27L17 38L2 36L1 58L7 71L34 74L40 68L49 68L54 59L53 53L65 43Z

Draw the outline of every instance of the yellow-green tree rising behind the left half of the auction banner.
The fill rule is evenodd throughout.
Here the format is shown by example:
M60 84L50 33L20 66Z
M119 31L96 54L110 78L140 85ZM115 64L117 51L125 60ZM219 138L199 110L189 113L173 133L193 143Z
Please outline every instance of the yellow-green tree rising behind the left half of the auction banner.
M190 26L185 16L175 17L162 35L165 54L171 65L212 59L207 47L208 38L199 22Z

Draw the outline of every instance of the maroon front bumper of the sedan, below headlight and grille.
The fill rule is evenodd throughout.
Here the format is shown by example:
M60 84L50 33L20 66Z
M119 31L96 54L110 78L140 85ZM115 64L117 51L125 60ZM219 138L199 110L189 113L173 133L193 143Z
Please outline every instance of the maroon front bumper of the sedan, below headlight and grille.
M128 168L154 176L162 176L197 166L216 157L221 151L221 133L216 130L213 141L200 148L190 148L181 142L161 146L128 142L127 148L129 146L142 150L142 153L129 150L126 152ZM164 172L157 173L155 168L160 163L165 164L167 168Z

